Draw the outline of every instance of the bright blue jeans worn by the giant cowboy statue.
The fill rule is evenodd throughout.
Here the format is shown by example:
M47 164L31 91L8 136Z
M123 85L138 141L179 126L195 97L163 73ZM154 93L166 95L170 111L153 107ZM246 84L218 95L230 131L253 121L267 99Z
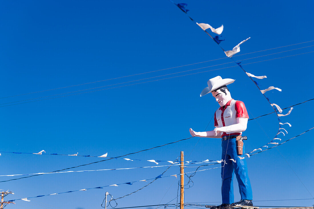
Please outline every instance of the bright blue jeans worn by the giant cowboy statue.
M233 194L233 171L236 174L236 179L239 184L239 191L241 200L253 200L251 182L247 173L246 159L237 158L239 156L236 152L236 139L230 138L221 142L222 147L222 159L235 159L234 163L231 160L227 160L225 166L221 168L221 196L222 203L231 204L234 202ZM245 153L243 145L243 153Z

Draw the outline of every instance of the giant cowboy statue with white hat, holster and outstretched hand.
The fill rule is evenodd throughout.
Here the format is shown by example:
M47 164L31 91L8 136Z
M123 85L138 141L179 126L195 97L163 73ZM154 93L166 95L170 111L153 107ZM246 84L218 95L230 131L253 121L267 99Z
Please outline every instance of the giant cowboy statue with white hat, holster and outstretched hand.
M235 80L226 78L222 79L216 76L209 79L206 87L201 92L201 97L205 94L212 93L219 104L219 108L214 114L214 130L206 132L195 132L190 128L192 136L221 138L222 159L227 160L221 168L221 196L222 204L214 206L211 209L228 209L232 206L253 206L251 182L247 172L246 159L236 158L244 152L241 134L246 130L248 114L243 102L231 98L230 91L226 85L233 83ZM238 143L239 142L239 143ZM228 160L228 159L234 159ZM239 184L241 201L234 202L233 195L233 172Z

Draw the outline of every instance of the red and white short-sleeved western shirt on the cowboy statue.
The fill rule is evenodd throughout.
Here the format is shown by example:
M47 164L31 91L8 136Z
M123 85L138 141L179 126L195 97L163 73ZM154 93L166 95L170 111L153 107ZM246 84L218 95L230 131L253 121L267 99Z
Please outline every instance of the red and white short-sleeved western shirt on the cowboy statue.
M214 126L224 127L237 124L236 118L249 118L243 102L231 99L224 107L219 107L214 115ZM242 132L221 133L224 136L241 135Z

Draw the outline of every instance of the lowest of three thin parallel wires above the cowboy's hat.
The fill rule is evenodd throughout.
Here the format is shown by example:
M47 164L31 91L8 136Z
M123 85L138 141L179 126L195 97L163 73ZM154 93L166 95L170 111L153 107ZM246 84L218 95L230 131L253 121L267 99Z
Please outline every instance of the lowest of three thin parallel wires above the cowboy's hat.
M305 53L301 53L301 54L295 54L295 55L289 55L289 56L284 56L284 57L279 57L279 58L274 58L274 59L269 59L269 60L262 60L262 61L257 61L257 62L276 60L276 59L281 59L281 58L286 58L286 57L291 57L291 56L296 56L296 55L308 54L308 53L312 53L312 52L314 52L314 51L305 52ZM246 63L246 64L243 64L243 65L249 65L249 64L253 64L253 63L257 63L257 62ZM214 69L214 70L196 72L196 73L191 73L191 74L186 74L186 75L181 75L181 76L189 76L189 75L194 75L194 74L198 74L198 73L204 73L204 72L209 72L209 71L216 71L216 70L221 70L221 69L226 69L226 68L231 68L231 67L237 67L237 66L238 66L238 65L234 65L234 66L230 66L230 67L224 67L224 68L218 68L218 69ZM203 68L206 68L206 67L203 67ZM200 69L201 69L201 68L200 68ZM194 70L195 70L195 69L194 69ZM189 70L189 71L191 71L191 70ZM184 71L184 72L185 72L185 71ZM179 72L178 72L178 73L179 73ZM169 74L169 75L170 75L170 74ZM161 81L161 80L171 79L171 78L177 78L177 77L181 77L181 76L173 76L173 77L162 78L162 79L157 79L157 80L153 80L153 81ZM160 77L160 76L156 76L156 77ZM144 79L141 79L141 80L144 80ZM133 85L136 85L136 84L148 83L148 82L153 82L153 81L139 82L139 83L124 85L124 86L116 86L116 87L111 87L111 88L106 88L106 89L100 89L100 90L94 90L94 91L87 91L87 92L82 92L82 93L77 93L77 94L70 94L70 95L65 95L65 96L60 96L60 97L52 97L52 98L34 100L34 101L30 101L30 102L38 102L38 101L43 101L43 100L49 100L49 99L55 99L55 98L61 98L61 97L68 97L68 96L73 96L73 95L85 94L85 93L96 92L96 91L103 91L103 90L114 89L114 88L120 88L120 87L125 87L125 86L133 86ZM132 81L129 81L129 82L132 82ZM125 82L124 82L124 83L125 83ZM115 85L118 85L118 84L115 84ZM30 103L30 102L21 102L21 103L17 103L17 104L3 105L3 106L0 106L0 107L7 107L7 106L18 105L18 104L25 104L25 103ZM275 110L275 109L274 109L274 110Z

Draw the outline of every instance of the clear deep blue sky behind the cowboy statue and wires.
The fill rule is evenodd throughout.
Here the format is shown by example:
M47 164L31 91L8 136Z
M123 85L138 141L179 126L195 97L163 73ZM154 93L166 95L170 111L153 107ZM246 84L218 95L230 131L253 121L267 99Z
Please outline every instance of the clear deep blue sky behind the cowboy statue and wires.
M226 50L231 50L242 40L251 37L241 45L241 52L237 55L297 44L235 56L234 59L267 55L242 61L242 64L247 64L295 55L243 67L254 75L267 76L257 81L261 88L275 86L282 89L282 92L273 90L265 93L272 103L282 108L312 99L314 62L313 53L307 53L313 51L311 45L314 45L314 42L308 42L313 40L314 32L311 27L312 1L177 3L187 3L190 10L188 14L198 23L208 23L214 28L223 24L225 41L220 45ZM2 3L0 18L1 97L43 91L2 98L1 104L17 104L22 102L16 101L29 102L33 101L29 99L51 98L46 96L55 94L66 96L68 94L63 93L72 91L82 93L152 81L1 107L0 134L3 143L0 151L34 153L44 149L46 153L78 152L80 155L95 156L108 152L108 156L113 157L188 138L188 129L202 131L219 107L210 95L199 97L208 79L218 75L236 79L229 86L231 95L245 102L250 118L273 111L239 67L230 67L232 63L220 65L230 62L230 59L225 58L219 46L169 1L8 1ZM308 43L298 44L302 42ZM298 49L302 47L306 48ZM269 55L278 52L282 53ZM307 54L297 55L301 53ZM220 60L204 62L215 59ZM198 62L204 63L141 74ZM218 66L208 67L212 65ZM215 70L223 67L230 68ZM188 71L196 68L203 69ZM202 71L208 72L181 76ZM164 76L171 73L177 74ZM134 74L141 75L129 76ZM122 76L129 77L102 81ZM160 77L151 78L154 76ZM170 78L173 76L180 77ZM153 81L163 78L169 79ZM135 81L140 79L145 80ZM95 83L73 86L89 82ZM123 82L128 83L119 84ZM44 91L65 86L73 87ZM107 87L97 88L100 86ZM80 91L90 88L95 89ZM283 122L292 124L291 128L285 127L288 134L282 137L283 140L313 127L312 103L295 106L289 116L281 118ZM4 105L7 104L1 106ZM212 128L213 121L207 130ZM249 138L245 142L246 150L252 151L267 144L277 129L278 120L274 114L249 121L245 132ZM185 152L186 160L221 158L220 140L202 138L195 146L197 142L198 138L191 138L129 155L128 158L175 160L180 151ZM253 199L312 198L313 148L312 133L309 132L279 146L278 150L270 149L247 159ZM1 154L1 175L49 172L99 160L72 156ZM113 159L77 170L153 165L145 161ZM186 168L186 172L195 169ZM7 198L18 199L149 179L164 171L165 167L49 174L4 182L0 189L14 191L15 195ZM177 173L179 168L173 166L165 175ZM1 180L10 178L1 177ZM186 190L185 202L221 201L219 169L198 172L192 180L194 186ZM166 203L176 197L177 182L175 177L158 179L143 190L119 199L118 207ZM144 185L145 182L139 182L34 198L30 199L31 202L16 201L16 205L7 208L101 208L106 191L117 198ZM239 200L237 184L234 185L235 200ZM313 200L254 204L311 206Z

